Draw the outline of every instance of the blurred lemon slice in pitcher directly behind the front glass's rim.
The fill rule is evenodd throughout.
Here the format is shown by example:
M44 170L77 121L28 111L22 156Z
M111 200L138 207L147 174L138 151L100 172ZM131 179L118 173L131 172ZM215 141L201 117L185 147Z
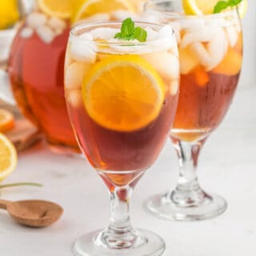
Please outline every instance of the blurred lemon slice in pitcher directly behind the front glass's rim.
M78 22L94 14L109 14L114 10L134 11L134 6L129 0L85 0L78 4L72 22Z

